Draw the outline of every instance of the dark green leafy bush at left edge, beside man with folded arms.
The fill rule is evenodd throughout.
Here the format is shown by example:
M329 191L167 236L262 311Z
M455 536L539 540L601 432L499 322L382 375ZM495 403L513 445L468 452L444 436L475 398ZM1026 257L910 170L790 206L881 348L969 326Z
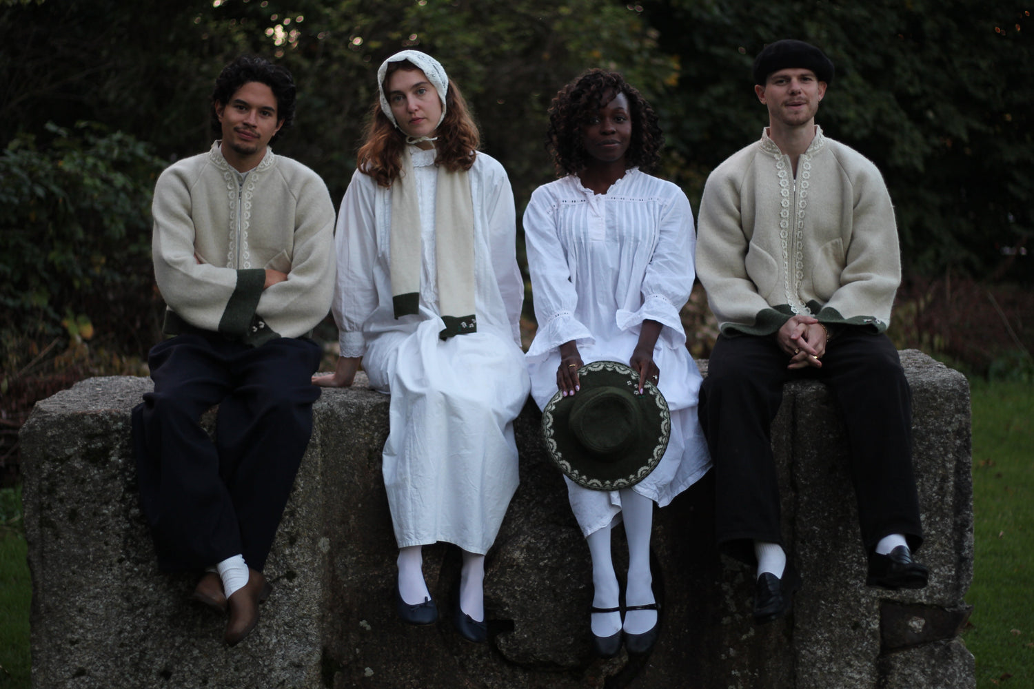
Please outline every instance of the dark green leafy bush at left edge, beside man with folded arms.
M150 199L162 163L132 136L96 124L47 132L44 145L21 134L0 156L0 330L89 339L93 325L142 328L151 311Z

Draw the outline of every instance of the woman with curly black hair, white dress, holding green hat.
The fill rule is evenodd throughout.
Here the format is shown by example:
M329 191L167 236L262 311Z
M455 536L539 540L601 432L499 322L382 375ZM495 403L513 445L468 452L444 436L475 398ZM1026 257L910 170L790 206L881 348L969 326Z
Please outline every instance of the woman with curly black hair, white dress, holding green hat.
M568 496L588 542L595 594L592 648L610 657L652 648L660 629L651 587L653 503L662 507L710 466L697 420L701 377L678 312L693 288L696 237L686 194L647 175L664 139L657 115L620 74L594 69L560 89L547 147L560 179L531 194L524 213L539 331L526 354L540 408L577 395L578 370L629 362L639 393L653 382L671 412L668 447L631 488L594 491L570 478ZM629 543L625 619L610 555L624 519Z

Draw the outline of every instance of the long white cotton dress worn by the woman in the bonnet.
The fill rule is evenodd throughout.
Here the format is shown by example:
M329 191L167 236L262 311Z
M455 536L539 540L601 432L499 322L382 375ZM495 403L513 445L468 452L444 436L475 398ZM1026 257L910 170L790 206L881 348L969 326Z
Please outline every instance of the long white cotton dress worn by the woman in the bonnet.
M528 396L513 192L503 166L479 153L469 170L478 332L439 340L435 152L410 151L423 232L420 311L395 318L391 189L356 170L335 233L333 313L341 355L362 356L370 385L391 395L384 478L398 546L440 540L484 554L517 490L513 420Z

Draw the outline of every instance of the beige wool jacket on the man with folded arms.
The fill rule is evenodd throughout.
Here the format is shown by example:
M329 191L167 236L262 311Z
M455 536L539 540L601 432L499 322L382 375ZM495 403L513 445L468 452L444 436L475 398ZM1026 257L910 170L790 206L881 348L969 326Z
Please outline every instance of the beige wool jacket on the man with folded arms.
M199 328L258 346L307 335L330 310L334 205L305 165L269 150L241 184L215 142L161 174L151 211L168 335ZM265 269L287 279L263 289Z

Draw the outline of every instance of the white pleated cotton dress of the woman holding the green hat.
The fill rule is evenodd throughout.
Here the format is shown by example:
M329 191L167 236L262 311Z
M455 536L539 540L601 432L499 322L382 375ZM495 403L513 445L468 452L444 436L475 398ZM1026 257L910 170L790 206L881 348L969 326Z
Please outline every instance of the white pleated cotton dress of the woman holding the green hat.
M671 410L671 440L657 468L632 490L667 505L710 467L697 420L700 372L678 316L693 289L696 246L686 194L638 168L606 194L568 176L531 194L524 238L539 321L526 361L540 408L556 394L561 344L574 340L586 364L628 364L643 320L663 325L653 361ZM584 535L615 521L619 492L592 491L565 478Z

